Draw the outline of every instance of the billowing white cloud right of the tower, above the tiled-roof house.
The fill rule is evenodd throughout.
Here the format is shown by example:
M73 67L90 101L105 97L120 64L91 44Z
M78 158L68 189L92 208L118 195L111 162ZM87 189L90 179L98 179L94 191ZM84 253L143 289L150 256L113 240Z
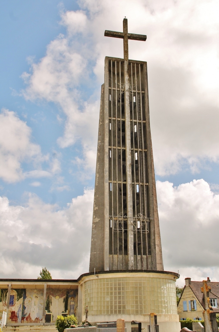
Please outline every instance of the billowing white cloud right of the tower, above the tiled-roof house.
M164 269L219 278L219 195L203 179L178 187L157 181L157 194Z

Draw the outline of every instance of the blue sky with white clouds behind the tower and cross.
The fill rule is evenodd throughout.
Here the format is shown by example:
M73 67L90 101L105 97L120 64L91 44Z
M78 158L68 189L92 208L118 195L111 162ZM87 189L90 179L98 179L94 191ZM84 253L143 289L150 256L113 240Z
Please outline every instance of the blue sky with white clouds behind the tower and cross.
M147 61L164 269L219 281L217 0L0 2L0 278L89 270L105 56Z

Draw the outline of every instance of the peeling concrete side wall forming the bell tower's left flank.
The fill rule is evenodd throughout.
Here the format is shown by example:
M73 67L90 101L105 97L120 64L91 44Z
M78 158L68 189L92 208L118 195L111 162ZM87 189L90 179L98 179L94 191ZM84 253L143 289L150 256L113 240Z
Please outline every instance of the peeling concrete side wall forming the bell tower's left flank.
M104 84L101 87L100 120L89 272L104 270Z

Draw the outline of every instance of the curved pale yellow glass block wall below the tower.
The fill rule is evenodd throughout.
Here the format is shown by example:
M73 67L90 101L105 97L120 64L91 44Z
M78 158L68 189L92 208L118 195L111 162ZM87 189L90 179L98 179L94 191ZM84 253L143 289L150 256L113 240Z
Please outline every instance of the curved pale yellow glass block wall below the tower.
M89 315L177 314L175 281L124 277L88 280L84 283L84 308Z

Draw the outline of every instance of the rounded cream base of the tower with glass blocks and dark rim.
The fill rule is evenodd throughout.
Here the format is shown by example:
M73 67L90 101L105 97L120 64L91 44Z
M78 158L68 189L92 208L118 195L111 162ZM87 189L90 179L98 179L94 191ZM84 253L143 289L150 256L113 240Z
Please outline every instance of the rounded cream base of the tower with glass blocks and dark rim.
M160 332L179 332L176 279L176 273L167 271L84 274L78 280L82 301L78 304L78 319L85 319L84 309L88 305L88 321L92 325L123 318L127 332L131 332L133 320L142 322L142 328L147 331L149 314L154 312Z

